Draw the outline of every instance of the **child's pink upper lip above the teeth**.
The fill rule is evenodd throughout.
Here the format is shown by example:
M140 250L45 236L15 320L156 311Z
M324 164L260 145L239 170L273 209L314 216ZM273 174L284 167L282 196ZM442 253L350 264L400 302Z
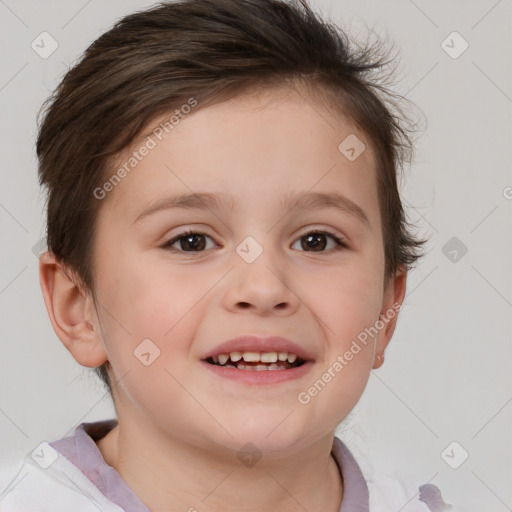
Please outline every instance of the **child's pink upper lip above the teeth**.
M304 361L314 360L312 354L302 348L297 343L281 336L256 336L243 335L237 336L232 340L225 341L215 348L206 352L201 359L218 356L219 354L229 354L230 352L288 352L295 354Z

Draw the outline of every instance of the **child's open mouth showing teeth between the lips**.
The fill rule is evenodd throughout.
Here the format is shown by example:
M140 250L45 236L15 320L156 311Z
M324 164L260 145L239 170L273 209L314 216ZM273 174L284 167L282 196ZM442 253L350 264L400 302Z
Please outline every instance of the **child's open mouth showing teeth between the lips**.
M223 368L253 372L290 370L306 363L296 354L288 352L229 352L208 357L205 361Z

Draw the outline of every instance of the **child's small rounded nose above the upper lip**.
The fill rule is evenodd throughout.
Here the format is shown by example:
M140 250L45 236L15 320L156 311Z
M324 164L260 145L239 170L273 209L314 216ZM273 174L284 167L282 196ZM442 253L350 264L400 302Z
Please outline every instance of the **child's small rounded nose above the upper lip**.
M236 261L227 276L224 307L233 313L247 311L263 316L295 313L300 299L293 290L290 272L286 272L284 266L268 251L252 263Z

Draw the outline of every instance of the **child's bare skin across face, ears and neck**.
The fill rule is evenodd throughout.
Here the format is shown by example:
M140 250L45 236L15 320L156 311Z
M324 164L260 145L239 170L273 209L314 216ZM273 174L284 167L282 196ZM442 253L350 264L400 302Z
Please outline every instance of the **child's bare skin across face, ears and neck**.
M97 445L152 510L339 510L334 430L381 366L398 313L308 404L297 396L402 303L406 272L384 286L370 142L304 97L269 90L197 110L149 152L100 208L93 254L99 304L52 254L41 257L57 335L81 365L108 360L112 367L119 424ZM351 133L366 144L355 161L338 150ZM329 208L280 210L294 191L337 191L366 212L370 227ZM134 222L148 205L191 192L225 192L238 204L233 211L163 210ZM304 237L313 228L334 231L348 248L334 251L326 236L314 250ZM186 229L207 235L196 238L203 252L186 240L174 252L162 247ZM247 236L263 248L250 264L236 252ZM287 337L314 354L315 364L301 379L255 386L199 363L205 351L242 334ZM133 353L147 338L161 351L149 366ZM263 455L252 467L237 458L247 442Z

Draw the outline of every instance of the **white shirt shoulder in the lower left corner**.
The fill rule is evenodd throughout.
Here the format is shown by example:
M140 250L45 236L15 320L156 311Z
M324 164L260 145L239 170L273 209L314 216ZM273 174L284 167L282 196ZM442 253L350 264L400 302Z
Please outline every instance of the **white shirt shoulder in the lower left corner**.
M2 512L122 512L49 443L0 469Z

